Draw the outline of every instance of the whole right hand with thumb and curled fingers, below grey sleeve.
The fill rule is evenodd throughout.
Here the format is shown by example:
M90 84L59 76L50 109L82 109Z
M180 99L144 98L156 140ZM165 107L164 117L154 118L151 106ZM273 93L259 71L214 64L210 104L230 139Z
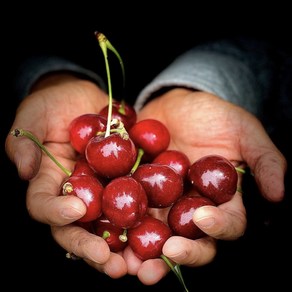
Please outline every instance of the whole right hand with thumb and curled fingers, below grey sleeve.
M272 143L261 123L244 109L212 94L174 89L155 98L139 112L138 120L154 118L162 121L171 134L169 149L187 154L191 162L208 154L228 158L237 167L249 166L261 194L277 202L284 196L286 160ZM242 174L239 175L239 186ZM245 174L247 175L247 174ZM161 217L165 210L158 212ZM206 234L189 240L173 236L165 243L163 253L170 260L190 267L211 262L216 255L216 239L234 240L246 229L246 210L242 194L218 207L198 208L193 220ZM161 259L141 262L126 248L124 257L129 273L141 282L154 284L167 272Z

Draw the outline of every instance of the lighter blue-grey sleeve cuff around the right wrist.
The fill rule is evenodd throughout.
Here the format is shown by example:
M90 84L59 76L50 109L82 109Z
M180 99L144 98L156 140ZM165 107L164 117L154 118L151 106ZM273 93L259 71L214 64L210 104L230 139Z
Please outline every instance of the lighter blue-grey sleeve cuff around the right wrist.
M157 91L187 87L215 94L260 115L272 67L265 44L218 41L195 47L173 61L138 95L139 110Z

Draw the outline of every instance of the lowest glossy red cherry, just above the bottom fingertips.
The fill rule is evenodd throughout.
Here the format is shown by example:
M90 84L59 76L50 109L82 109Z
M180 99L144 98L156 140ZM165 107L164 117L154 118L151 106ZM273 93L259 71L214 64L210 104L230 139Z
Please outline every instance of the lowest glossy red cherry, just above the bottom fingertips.
M159 219L142 218L135 228L128 229L128 245L142 261L159 258L164 243L172 235L171 229Z

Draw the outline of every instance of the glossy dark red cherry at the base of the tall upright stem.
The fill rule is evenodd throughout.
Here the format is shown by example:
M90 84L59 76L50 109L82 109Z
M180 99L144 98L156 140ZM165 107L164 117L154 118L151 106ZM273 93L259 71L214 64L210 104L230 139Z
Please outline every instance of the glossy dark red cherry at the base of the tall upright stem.
M85 149L85 156L97 175L115 178L130 172L136 161L137 150L130 138L114 133L107 137L92 137Z

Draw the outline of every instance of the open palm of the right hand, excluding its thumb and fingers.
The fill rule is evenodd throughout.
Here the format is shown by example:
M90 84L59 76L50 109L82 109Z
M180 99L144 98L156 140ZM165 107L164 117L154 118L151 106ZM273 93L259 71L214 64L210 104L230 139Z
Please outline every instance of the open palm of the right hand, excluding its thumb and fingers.
M139 118L161 120L171 134L169 148L183 151L192 162L210 153L241 161L239 135L244 115L249 117L245 111L215 96L185 94L183 90L150 102Z

